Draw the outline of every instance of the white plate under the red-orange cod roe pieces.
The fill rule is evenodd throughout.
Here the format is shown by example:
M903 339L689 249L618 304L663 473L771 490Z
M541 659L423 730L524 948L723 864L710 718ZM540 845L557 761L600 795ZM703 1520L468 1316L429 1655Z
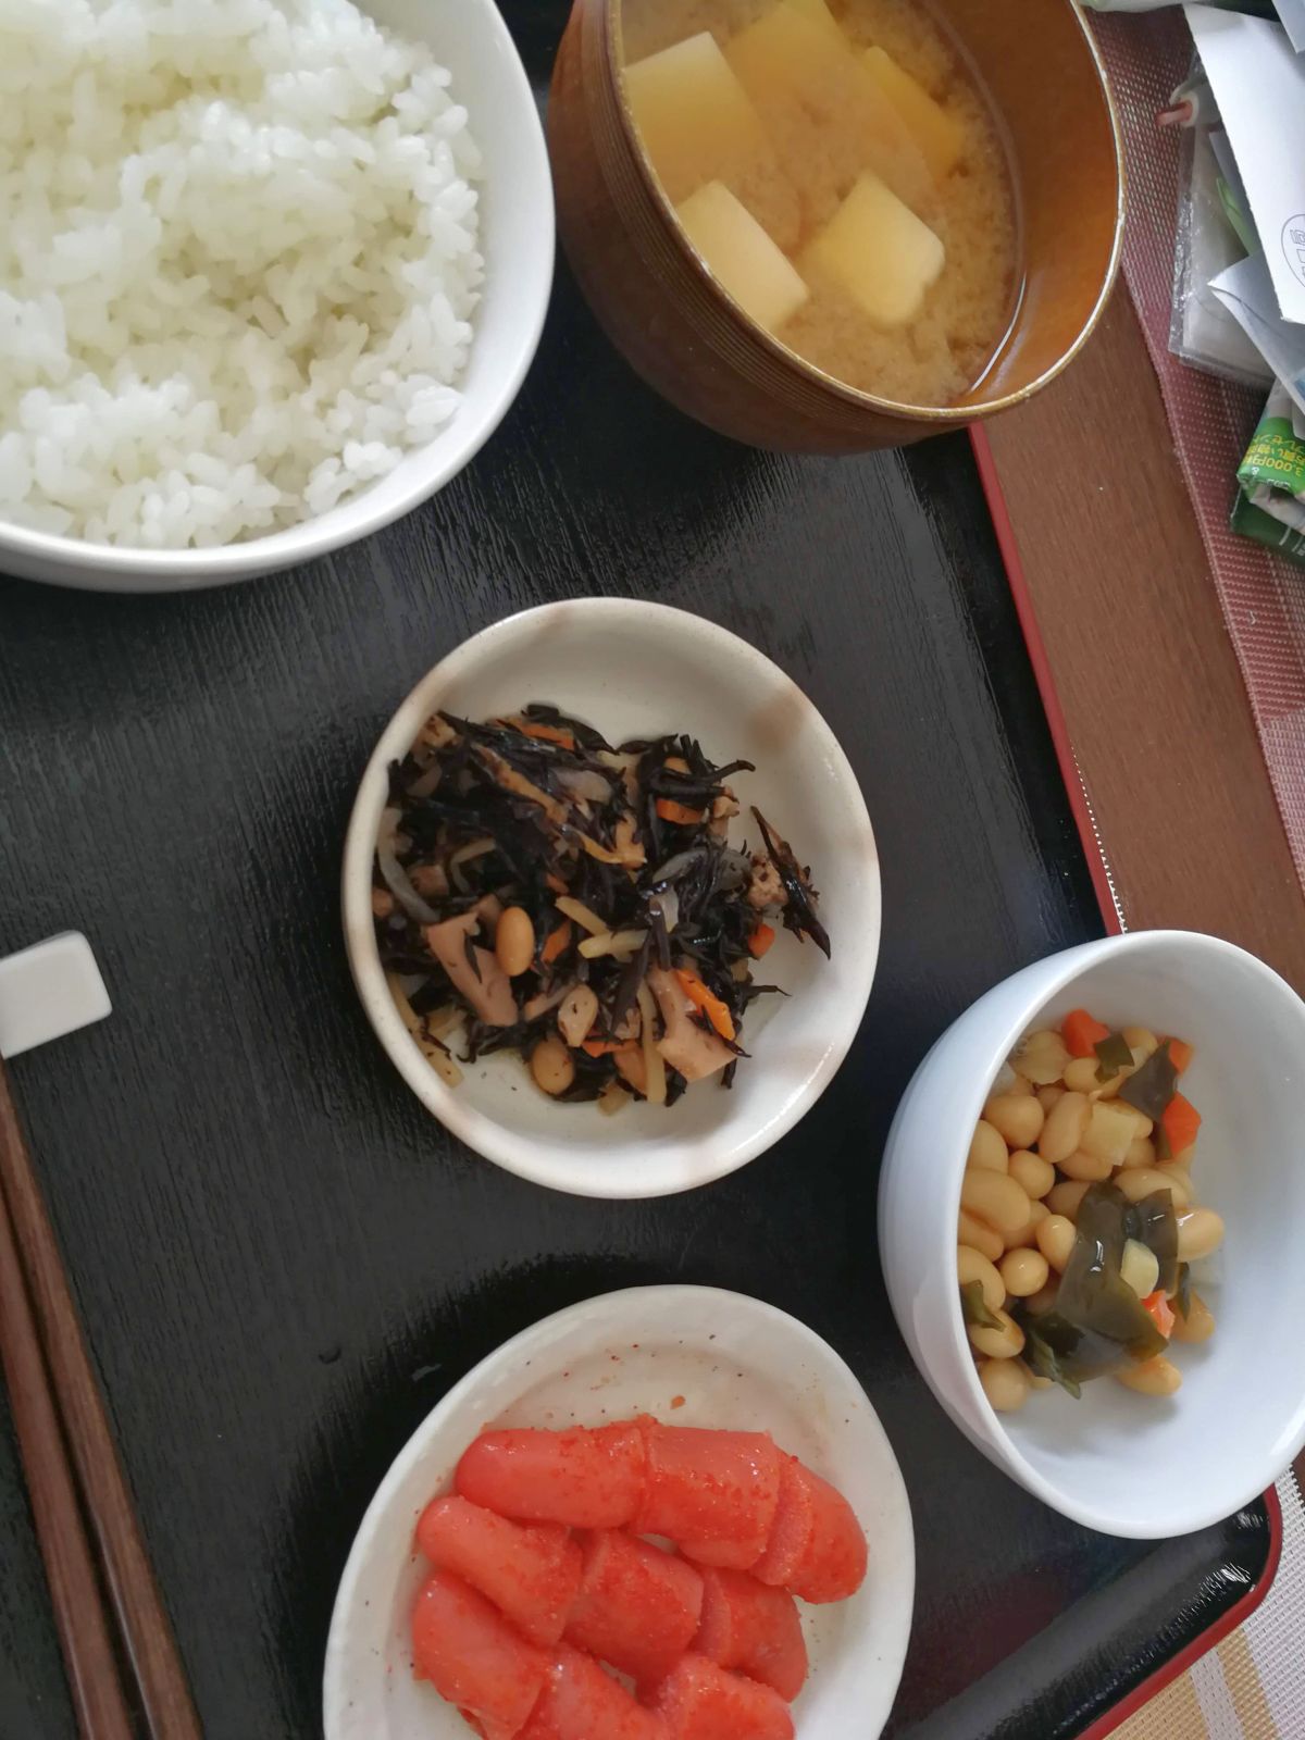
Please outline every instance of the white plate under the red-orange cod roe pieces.
M672 1408L677 1397L682 1406ZM367 1507L331 1618L325 1740L468 1740L412 1679L409 1613L423 1580L412 1528L491 1425L600 1425L651 1413L675 1425L771 1432L847 1496L870 1540L861 1590L802 1608L811 1679L800 1740L875 1740L901 1677L915 1594L910 1505L893 1448L853 1371L813 1329L715 1288L632 1288L513 1336L418 1427ZM597 1737L595 1737L597 1740Z

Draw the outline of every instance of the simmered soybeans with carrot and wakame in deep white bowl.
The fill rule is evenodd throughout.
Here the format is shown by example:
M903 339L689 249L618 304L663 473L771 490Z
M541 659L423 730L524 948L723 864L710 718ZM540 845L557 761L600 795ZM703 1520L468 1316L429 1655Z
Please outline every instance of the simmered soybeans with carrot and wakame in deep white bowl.
M957 1277L999 1413L1112 1376L1173 1395L1173 1343L1215 1333L1195 1265L1223 1241L1192 1183L1201 1114L1180 1039L1086 1009L1030 1034L994 1086L960 1187Z

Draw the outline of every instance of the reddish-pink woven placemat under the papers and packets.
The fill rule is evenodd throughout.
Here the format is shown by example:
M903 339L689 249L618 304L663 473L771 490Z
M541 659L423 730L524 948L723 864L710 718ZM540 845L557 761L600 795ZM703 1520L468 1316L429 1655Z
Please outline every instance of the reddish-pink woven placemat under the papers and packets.
M1155 117L1188 75L1192 38L1176 9L1147 17L1101 17L1096 33L1128 158L1124 278L1161 381L1174 449L1305 886L1305 571L1228 531L1235 470L1265 395L1201 374L1169 353L1180 137L1176 129L1157 127ZM1305 1740L1305 1726L1300 1737Z

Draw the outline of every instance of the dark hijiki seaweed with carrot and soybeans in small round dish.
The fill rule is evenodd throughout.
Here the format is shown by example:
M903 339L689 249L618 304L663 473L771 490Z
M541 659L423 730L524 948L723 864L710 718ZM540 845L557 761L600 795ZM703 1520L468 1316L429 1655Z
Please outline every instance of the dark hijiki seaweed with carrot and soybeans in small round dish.
M689 736L612 746L555 706L435 713L390 767L372 875L390 992L430 1065L517 1051L557 1100L614 1112L729 1088L778 927L830 940L809 868ZM743 823L746 826L746 823ZM459 1056L456 1051L459 1049Z

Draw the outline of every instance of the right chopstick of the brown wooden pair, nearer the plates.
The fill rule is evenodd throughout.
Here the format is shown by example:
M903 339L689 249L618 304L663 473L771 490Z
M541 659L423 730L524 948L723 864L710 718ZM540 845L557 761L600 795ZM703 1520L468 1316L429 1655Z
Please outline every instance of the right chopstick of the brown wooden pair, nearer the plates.
M26 1141L0 1065L0 1194L7 1206L14 1270L26 1282L44 1364L52 1380L52 1406L68 1436L73 1467L108 1585L118 1630L130 1660L151 1740L202 1740L172 1625L144 1550L136 1509L127 1491L118 1449L104 1413L82 1324L68 1288L59 1246L37 1183ZM0 1262L3 1253L0 1251ZM5 1319L9 1310L5 1310ZM9 1371L9 1352L5 1350ZM12 1378L10 1378L12 1387ZM49 1397L47 1397L49 1399ZM28 1484L33 1484L31 1463ZM35 1491L33 1491L35 1509ZM40 1526L40 1519L38 1519ZM85 1542L84 1542L85 1545ZM49 1568L49 1557L47 1557ZM57 1596L56 1596L57 1610ZM63 1632L63 1620L61 1620ZM64 1656L68 1643L64 1641ZM73 1672L70 1663L70 1672ZM85 1728L87 1737L115 1737L113 1728ZM130 1730L122 1730L124 1735Z

